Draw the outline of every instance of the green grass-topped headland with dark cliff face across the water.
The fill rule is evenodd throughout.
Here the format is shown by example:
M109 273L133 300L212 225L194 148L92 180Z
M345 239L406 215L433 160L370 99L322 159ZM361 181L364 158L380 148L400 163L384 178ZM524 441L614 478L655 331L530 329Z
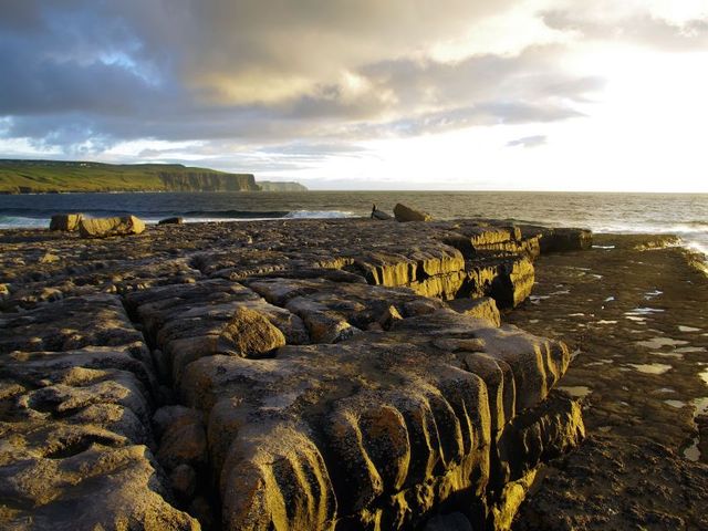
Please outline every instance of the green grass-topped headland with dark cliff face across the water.
M0 159L0 192L259 191L251 174L228 174L180 164Z

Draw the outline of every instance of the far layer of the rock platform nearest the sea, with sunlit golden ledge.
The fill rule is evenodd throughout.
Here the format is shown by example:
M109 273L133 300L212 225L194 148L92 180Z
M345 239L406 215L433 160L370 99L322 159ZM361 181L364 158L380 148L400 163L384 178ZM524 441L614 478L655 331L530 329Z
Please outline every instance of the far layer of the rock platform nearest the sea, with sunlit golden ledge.
M369 219L288 220L204 227L148 227L149 237L125 238L119 246L111 239L80 243L71 233L3 231L0 309L31 308L92 290L124 293L201 275L238 281L271 273L316 278L335 271L454 299L465 294L465 260L477 263L480 253L533 258L541 236L539 230L477 220L385 227ZM545 238L553 239L548 233ZM48 253L59 260L42 263Z

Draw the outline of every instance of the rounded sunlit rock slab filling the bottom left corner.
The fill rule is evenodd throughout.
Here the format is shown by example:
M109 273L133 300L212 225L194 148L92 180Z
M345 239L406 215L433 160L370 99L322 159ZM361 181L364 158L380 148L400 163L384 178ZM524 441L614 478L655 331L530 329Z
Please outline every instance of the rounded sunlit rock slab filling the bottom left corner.
M23 458L0 466L0 523L21 530L199 530L165 501L155 475L142 446L93 445L61 459Z

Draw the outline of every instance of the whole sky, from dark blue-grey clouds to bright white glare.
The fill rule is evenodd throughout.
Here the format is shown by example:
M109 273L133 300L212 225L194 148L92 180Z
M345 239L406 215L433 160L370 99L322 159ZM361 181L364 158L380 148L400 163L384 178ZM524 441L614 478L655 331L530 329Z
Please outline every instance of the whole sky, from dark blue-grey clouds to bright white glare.
M708 0L0 0L0 157L708 192Z

